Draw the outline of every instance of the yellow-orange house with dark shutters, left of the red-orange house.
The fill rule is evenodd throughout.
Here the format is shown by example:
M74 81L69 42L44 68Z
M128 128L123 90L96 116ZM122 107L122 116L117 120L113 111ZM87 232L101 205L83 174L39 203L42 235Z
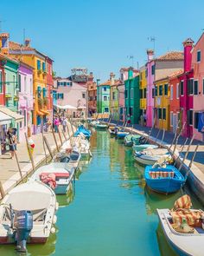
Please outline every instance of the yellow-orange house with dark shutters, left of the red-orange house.
M165 130L170 129L170 110L169 110L169 77L156 80L155 84L155 109L154 117L156 128Z

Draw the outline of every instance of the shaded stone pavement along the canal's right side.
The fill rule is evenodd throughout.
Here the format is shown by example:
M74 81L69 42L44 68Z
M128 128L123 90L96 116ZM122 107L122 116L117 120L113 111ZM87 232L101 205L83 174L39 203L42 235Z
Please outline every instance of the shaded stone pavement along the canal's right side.
M104 121L107 121L107 120L104 120ZM116 123L116 121L112 121L112 123ZM120 122L118 124L122 125L122 122ZM127 127L131 128L131 125L129 125ZM149 131L150 131L149 127L143 127L143 126L138 125L138 124L135 124L133 126L133 128L137 129L140 132L145 132L146 134L149 134ZM159 129L157 129L157 128L153 128L151 136L156 137L156 135L158 133L158 130ZM167 145L171 144L171 142L174 139L174 136L175 136L175 134L173 134L172 132L166 131L165 135L164 135L163 142L165 142L165 144L167 144ZM160 134L158 135L158 140L162 140L162 137L163 137L163 131L160 131ZM186 138L180 136L180 138L178 140L177 147L176 147L178 152L181 151L182 145L184 144L185 141L186 141ZM190 142L190 139L188 139L187 145L183 148L183 151L182 151L183 154L186 153L189 142ZM194 154L194 149L195 149L197 144L199 144L200 146L199 146L197 154L195 155L195 158L194 158L194 165L197 166L201 170L201 172L204 174L204 142L194 140L191 147L190 147L187 159L191 160L191 158Z

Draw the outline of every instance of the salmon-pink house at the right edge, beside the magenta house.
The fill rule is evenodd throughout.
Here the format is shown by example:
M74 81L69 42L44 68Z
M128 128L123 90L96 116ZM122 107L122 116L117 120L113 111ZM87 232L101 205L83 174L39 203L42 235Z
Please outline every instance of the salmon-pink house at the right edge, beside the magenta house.
M195 139L204 141L204 131L201 132L201 127L204 125L204 33L194 45L192 66L194 68L192 130ZM199 122L202 123L202 126L199 125Z

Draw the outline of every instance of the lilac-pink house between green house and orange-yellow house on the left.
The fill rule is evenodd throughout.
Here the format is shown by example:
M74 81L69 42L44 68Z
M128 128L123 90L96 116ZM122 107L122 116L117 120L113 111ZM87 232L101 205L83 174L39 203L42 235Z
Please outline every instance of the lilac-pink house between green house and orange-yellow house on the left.
M33 133L33 68L24 62L20 62L18 69L19 75L19 114L24 116L24 120L19 124L19 141L25 140L24 133L28 132L28 128L31 128Z

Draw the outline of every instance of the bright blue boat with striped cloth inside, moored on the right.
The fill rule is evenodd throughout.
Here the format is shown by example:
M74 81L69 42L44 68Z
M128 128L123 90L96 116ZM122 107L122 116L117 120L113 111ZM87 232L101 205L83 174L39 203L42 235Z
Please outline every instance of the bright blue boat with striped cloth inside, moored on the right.
M182 174L171 165L166 167L147 166L145 167L144 177L150 189L162 194L175 193L185 183Z

